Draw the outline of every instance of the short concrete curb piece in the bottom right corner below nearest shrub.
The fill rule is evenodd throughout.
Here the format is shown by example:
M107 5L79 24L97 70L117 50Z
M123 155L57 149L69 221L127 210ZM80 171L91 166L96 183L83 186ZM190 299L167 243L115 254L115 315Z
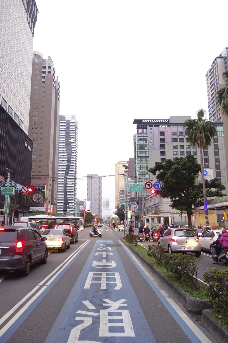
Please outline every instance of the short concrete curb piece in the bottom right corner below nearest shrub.
M228 342L228 331L224 329L221 324L219 324L217 319L211 316L209 309L204 309L202 311L201 324L214 336L219 343Z

